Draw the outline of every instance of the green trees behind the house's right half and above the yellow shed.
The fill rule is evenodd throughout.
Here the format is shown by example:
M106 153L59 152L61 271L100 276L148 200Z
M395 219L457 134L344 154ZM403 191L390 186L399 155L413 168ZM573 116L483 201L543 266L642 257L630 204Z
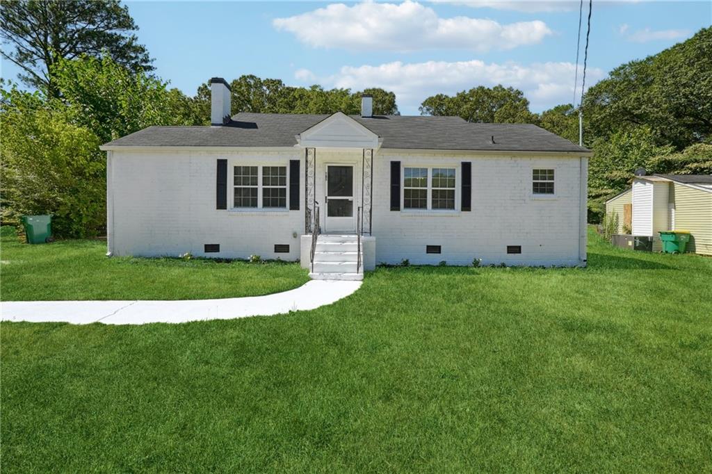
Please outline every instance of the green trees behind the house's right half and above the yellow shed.
M479 86L423 101L427 115L470 122L533 123L578 142L578 112L557 105L529 110L520 90ZM589 167L589 218L629 186L635 169L649 173L712 174L712 28L654 56L620 65L585 93L584 145Z

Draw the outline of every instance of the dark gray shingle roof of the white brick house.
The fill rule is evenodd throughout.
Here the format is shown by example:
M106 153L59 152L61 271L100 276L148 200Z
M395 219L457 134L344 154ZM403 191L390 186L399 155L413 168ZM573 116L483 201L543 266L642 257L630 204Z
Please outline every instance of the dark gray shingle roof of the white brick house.
M147 127L107 143L113 147L292 147L295 135L329 115L239 113L224 127ZM460 117L351 116L383 148L477 151L589 152L530 124L469 123ZM494 136L494 143L490 139Z

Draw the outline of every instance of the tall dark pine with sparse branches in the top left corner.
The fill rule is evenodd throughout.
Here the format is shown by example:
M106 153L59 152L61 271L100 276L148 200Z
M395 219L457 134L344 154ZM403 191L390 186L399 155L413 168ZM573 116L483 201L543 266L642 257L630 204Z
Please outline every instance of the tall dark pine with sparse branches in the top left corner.
M21 80L58 96L53 66L61 59L108 54L133 72L152 70L138 27L119 0L6 0L0 11L2 38L14 50L3 56L24 71Z

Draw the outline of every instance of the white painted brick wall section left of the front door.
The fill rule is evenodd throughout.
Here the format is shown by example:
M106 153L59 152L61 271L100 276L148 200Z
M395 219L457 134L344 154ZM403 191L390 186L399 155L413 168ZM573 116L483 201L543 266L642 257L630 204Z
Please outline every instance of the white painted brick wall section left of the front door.
M281 165L302 159L287 153L113 152L111 251L115 255L194 256L298 260L304 231L299 211L224 211L215 209L216 160L228 159L228 206L232 203L233 166L237 162ZM303 176L301 188L303 189ZM303 199L303 198L302 198ZM109 211L111 212L111 210ZM109 221L112 216L109 216ZM296 233L297 237L293 236ZM204 253L205 243L219 243L220 253ZM287 243L290 253L274 253Z

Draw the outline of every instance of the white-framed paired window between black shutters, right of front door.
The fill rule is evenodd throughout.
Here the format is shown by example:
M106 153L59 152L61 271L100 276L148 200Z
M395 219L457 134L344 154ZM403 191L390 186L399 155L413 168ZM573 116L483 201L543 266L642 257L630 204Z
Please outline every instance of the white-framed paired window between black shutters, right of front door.
M455 209L454 168L404 168L403 209Z

